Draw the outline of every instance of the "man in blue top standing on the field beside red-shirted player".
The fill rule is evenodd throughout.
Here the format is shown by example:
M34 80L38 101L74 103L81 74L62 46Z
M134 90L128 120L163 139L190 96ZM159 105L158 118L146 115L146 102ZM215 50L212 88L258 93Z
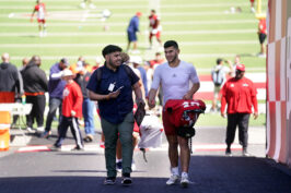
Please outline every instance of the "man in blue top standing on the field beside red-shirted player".
M133 44L132 53L137 53L138 51L138 37L137 32L139 32L139 17L141 16L141 12L137 12L135 16L131 17L129 25L127 27L127 51L130 49L130 44Z

